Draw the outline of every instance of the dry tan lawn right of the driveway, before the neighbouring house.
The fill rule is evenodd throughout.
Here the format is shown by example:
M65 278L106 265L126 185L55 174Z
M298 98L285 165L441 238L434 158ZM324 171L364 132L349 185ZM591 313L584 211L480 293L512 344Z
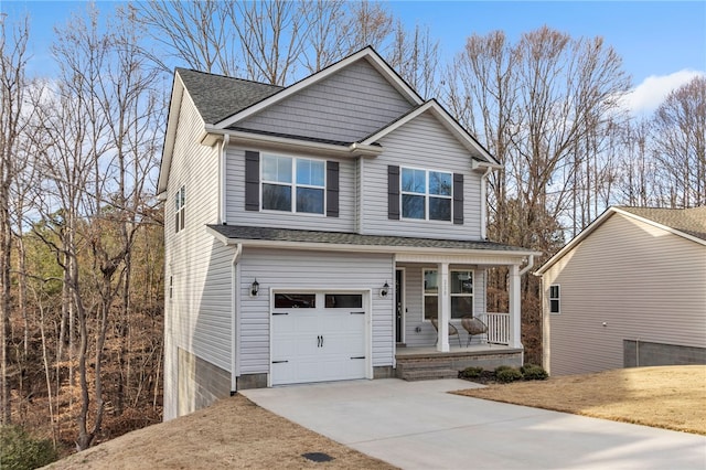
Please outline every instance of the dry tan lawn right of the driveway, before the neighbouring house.
M706 435L706 365L620 368L456 393Z

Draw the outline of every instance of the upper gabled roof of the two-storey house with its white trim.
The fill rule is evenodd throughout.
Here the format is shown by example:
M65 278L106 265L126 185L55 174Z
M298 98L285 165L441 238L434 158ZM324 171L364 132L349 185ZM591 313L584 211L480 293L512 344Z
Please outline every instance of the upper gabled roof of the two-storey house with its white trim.
M367 61L405 99L414 107L392 122L383 126L379 130L367 136L357 142L338 142L311 137L288 136L272 132L258 132L254 130L239 129L237 122L261 111L265 108L275 106L282 99L299 93L321 81L330 77L357 61ZM223 75L214 75L204 72L196 72L188 68L176 68L174 72L174 83L172 86L171 103L164 132L164 145L162 149L162 161L159 170L157 194L167 191L167 181L171 168L171 157L176 135L176 121L180 113L181 102L186 94L199 115L204 128L201 137L202 145L213 145L218 140L218 136L229 133L260 137L267 139L269 143L278 141L279 145L300 145L310 142L328 150L345 152L345 154L367 154L375 156L382 152L382 148L375 142L376 139L392 132L396 128L410 121L422 113L430 111L451 135L453 135L468 150L472 157L473 168L489 167L501 168L493 156L471 136L449 113L435 99L424 102L422 98L387 64L371 46L351 54L320 72L314 73L291 86L281 87L258 82L233 78ZM271 140L271 141L270 141ZM328 147L327 147L328 146ZM317 148L318 150L321 150ZM163 194L162 194L163 195Z

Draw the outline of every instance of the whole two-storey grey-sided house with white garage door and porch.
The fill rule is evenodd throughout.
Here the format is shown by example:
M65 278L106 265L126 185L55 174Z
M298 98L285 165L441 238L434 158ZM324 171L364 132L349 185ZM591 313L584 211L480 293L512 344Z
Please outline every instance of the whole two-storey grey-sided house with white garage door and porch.
M448 353L469 314L494 360L521 363L536 253L485 238L498 168L370 47L286 88L178 68L158 186L164 419L248 387L394 376L399 346ZM509 312L485 311L493 266Z

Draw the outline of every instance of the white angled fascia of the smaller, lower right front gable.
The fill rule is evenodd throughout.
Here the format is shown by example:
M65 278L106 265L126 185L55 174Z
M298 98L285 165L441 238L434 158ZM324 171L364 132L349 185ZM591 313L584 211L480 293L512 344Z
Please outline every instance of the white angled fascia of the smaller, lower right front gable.
M399 129L411 120L416 119L424 113L431 113L439 122L451 132L469 151L475 152L486 159L488 161L478 161L473 160L474 168L477 165L490 167L490 168L502 168L502 165L495 160L495 158L490 154L488 150L483 148L471 135L469 135L466 129L463 129L457 121L453 119L442 107L439 105L436 99L430 99L425 103L422 106L418 107L414 111L409 113L407 116L403 117L391 124L389 126L378 130L374 135L370 136L367 139L363 140L362 143L372 145L383 137L389 135L391 132Z

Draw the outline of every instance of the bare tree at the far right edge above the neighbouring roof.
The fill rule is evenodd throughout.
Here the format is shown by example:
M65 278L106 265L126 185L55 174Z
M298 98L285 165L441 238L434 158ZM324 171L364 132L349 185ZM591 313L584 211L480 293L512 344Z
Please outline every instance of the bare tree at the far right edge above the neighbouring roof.
M656 168L668 188L661 205L706 205L706 77L672 92L652 125Z

